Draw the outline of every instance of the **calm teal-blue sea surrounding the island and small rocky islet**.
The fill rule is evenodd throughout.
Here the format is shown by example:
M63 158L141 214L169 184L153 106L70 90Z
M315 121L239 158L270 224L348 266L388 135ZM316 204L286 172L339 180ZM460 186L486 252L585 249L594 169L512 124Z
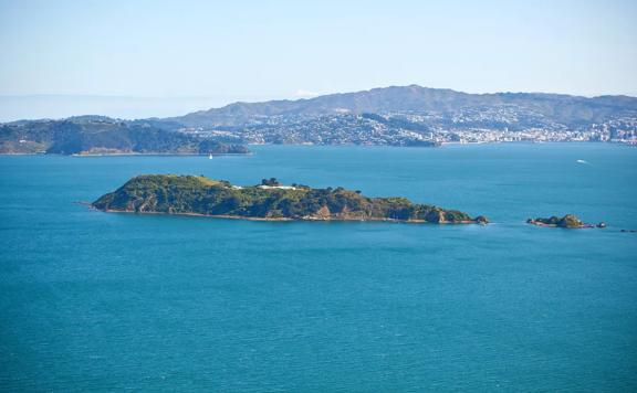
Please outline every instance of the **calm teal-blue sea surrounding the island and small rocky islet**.
M637 149L0 157L0 391L637 390ZM587 163L577 162L585 160ZM142 173L343 185L494 224L106 214ZM524 224L575 213L606 230Z

